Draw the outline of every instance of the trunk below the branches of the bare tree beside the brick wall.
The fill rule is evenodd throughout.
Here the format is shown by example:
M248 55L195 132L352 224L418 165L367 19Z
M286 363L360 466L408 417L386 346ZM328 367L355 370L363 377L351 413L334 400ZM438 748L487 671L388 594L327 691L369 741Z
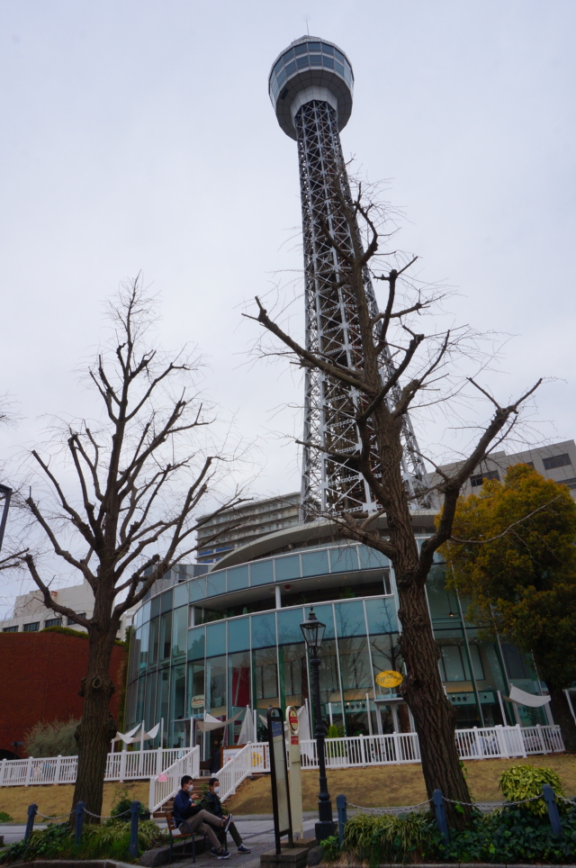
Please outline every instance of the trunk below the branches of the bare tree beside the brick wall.
M84 711L76 728L78 770L72 809L78 801L83 801L93 814L100 814L102 809L106 758L116 735L116 724L109 708L115 690L110 678L113 642L114 634L111 636L110 631L91 631L88 669L79 691L84 697ZM86 819L97 822L89 815Z

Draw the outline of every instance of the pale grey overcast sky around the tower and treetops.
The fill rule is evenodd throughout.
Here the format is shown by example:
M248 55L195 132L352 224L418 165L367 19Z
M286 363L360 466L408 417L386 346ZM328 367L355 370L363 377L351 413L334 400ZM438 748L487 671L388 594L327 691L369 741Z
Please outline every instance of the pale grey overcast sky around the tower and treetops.
M0 21L0 393L22 416L0 457L40 414L90 411L74 368L141 270L160 341L198 343L203 388L260 440L255 493L300 487L295 449L266 434L300 428L275 415L300 381L246 366L257 327L240 312L302 267L296 148L267 76L307 27L351 60L343 147L389 180L401 247L458 288L457 321L515 336L502 398L556 378L543 431L574 436L572 0L3 0Z

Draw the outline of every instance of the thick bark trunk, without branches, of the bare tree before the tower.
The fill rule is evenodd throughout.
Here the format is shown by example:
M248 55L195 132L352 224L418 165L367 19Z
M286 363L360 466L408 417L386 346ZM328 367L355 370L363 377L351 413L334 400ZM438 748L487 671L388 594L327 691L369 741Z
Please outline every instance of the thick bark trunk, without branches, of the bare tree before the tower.
M440 677L440 650L432 632L426 590L412 576L397 576L396 583L402 624L400 647L406 665L401 694L416 724L428 799L438 789L453 800L470 802L456 750L455 712ZM470 810L464 806L463 814L448 802L450 825L464 826Z

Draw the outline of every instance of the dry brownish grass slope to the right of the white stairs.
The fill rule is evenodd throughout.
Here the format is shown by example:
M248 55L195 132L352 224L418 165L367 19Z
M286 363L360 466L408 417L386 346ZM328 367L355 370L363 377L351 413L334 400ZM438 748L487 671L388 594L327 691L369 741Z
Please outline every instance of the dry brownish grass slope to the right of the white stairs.
M466 763L466 772L473 799L501 800L498 779L510 765L545 765L553 768L559 773L566 794L576 794L576 755L551 754L531 756L527 759L469 761ZM419 764L329 771L328 784L334 810L339 792L343 792L348 801L366 808L416 805L426 799L424 778ZM236 795L226 800L226 807L235 814L271 814L269 775L244 782ZM304 810L315 810L318 807L318 772L302 772L302 807Z

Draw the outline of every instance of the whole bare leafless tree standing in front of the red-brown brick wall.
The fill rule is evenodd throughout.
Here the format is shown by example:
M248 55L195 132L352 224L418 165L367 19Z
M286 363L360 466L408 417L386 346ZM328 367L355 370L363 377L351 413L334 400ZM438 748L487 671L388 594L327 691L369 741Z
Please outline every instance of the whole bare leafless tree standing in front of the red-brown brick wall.
M110 303L109 314L112 340L87 371L88 383L103 402L103 422L56 423L59 454L56 449L31 452L40 483L25 498L32 528L48 541L52 557L92 588L92 617L52 596L41 555L31 549L23 556L45 605L88 632L73 804L82 800L96 815L102 809L106 755L116 733L109 669L121 615L193 553L196 529L243 500L237 487L220 498L217 510L197 517L202 498L214 494L224 460L218 449L210 454L202 448L202 429L210 421L198 395L187 393L185 381L198 364L182 354L167 357L152 346L147 331L154 305L138 278Z

